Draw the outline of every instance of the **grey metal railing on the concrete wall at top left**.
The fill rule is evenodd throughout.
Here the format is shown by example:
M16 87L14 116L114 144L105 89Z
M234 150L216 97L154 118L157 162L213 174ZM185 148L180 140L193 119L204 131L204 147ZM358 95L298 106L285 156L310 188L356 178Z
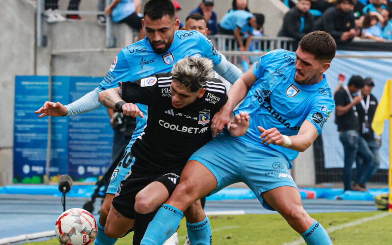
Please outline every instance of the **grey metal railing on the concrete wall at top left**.
M110 4L110 0L105 0L106 6ZM48 45L48 37L44 35L44 7L45 0L37 0L37 46L46 47ZM80 11L80 10L59 10L60 14L69 15L105 15L104 11ZM106 17L105 32L106 32L106 48L114 48L116 46L116 39L112 35L112 18Z

